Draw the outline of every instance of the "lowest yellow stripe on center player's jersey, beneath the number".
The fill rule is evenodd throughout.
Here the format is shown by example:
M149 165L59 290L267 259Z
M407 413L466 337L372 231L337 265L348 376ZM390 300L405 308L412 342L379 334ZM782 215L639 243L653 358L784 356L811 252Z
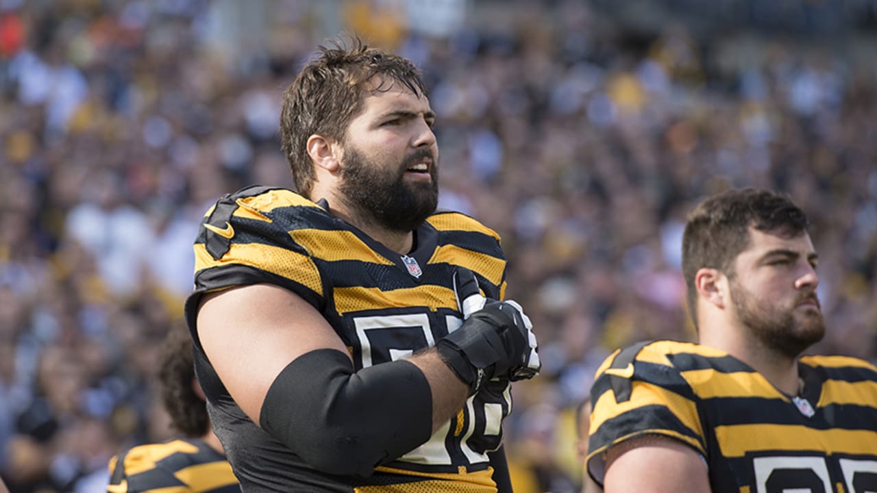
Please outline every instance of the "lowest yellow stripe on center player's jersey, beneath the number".
M493 468L467 473L460 468L460 474L419 473L405 469L374 468L376 471L397 475L435 478L432 481L397 482L387 485L358 486L354 493L496 493L493 481Z

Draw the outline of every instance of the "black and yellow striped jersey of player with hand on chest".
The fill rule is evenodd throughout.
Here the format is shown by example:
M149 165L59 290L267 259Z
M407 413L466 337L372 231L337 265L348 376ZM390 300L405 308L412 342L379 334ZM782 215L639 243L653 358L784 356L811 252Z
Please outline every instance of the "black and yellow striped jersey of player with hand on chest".
M196 286L186 313L211 421L245 487L282 490L309 483L315 491L353 491L353 485L363 493L496 490L488 452L501 445L503 418L511 410L508 382L488 382L429 441L376 468L374 475L339 478L310 468L254 425L197 342L196 307L203 293L270 282L320 311L360 369L431 347L462 324L453 291L458 266L475 273L485 296L503 297L506 260L496 232L466 215L437 212L415 235L414 251L396 254L288 189L243 189L207 211L196 239Z

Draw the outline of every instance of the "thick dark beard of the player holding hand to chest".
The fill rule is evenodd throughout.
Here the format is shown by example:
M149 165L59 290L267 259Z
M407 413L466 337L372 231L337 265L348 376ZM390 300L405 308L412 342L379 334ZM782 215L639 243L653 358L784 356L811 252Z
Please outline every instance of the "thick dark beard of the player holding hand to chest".
M432 160L431 182L406 183L405 169L424 157ZM390 231L413 231L439 204L439 170L434 158L424 149L406 156L399 168L388 169L347 147L339 187L342 200L364 221Z

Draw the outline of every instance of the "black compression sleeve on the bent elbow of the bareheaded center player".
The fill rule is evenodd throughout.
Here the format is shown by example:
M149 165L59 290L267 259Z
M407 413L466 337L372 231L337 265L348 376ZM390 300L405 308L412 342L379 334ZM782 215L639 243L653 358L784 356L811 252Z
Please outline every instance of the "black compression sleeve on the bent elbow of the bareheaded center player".
M430 384L410 361L353 373L346 354L317 349L277 375L260 425L317 470L368 476L430 438Z

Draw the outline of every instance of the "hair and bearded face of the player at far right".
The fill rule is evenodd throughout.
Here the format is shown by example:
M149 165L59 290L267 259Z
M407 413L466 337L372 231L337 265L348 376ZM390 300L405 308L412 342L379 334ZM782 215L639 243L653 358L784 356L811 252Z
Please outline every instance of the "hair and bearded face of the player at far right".
M708 268L727 277L736 317L766 347L794 357L822 339L808 225L800 208L767 190L731 189L699 204L682 237L682 271L695 324L696 276Z

